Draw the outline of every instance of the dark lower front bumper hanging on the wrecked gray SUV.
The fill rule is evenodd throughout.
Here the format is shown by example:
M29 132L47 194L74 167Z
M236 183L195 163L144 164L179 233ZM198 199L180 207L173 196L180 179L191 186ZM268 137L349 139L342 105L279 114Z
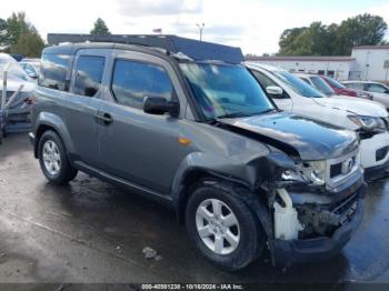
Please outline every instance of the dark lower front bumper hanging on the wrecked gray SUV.
M339 227L333 232L332 237L292 241L276 239L273 241L275 263L278 265L289 265L305 261L326 260L339 253L351 239L362 221L366 189L367 185L363 183L357 190L358 208L352 220L347 224Z

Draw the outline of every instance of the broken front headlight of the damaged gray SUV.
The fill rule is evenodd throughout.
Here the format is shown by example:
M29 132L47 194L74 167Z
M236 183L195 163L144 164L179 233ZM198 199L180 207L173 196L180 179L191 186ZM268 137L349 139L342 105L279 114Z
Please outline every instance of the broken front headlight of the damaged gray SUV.
M306 182L313 185L326 184L326 161L310 161L303 162L296 169L288 169L282 172L281 179L283 181Z

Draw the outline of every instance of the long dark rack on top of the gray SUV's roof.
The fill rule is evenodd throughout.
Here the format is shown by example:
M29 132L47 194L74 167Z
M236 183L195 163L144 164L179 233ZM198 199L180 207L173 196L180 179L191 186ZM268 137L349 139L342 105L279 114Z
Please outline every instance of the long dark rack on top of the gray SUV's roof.
M182 52L193 60L218 60L231 63L240 63L245 60L240 48L198 41L181 38L172 34L72 34L72 33L49 33L48 42L51 46L70 42L112 42L138 44L164 49L171 53Z

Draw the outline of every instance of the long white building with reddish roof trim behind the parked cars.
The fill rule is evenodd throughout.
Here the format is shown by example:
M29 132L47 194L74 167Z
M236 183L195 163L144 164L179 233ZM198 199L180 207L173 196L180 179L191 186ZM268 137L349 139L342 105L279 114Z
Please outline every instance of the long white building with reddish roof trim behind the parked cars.
M356 47L351 57L248 57L246 60L291 72L325 74L341 81L389 81L389 46Z

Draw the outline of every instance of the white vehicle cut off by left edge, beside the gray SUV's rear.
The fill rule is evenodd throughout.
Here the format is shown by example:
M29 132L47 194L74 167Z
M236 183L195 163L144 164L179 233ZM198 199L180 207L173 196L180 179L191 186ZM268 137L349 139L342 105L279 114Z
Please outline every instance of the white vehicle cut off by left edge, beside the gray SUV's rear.
M7 87L3 87L7 71ZM19 63L9 54L0 53L0 100L6 90L6 100L0 102L0 136L6 136L10 128L28 128L30 124L31 97L36 86L24 73ZM6 107L7 108L3 108ZM1 139L1 137L0 137Z

